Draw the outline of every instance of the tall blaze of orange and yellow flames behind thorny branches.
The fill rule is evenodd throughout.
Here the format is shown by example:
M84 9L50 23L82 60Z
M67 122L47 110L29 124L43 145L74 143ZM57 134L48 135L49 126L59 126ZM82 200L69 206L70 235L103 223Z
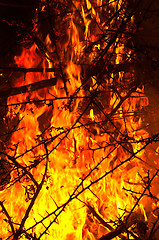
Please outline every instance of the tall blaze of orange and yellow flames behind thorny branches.
M34 236L48 240L93 240L114 231L127 218L130 228L136 224L130 218L147 221L144 201L136 205L133 217L129 217L136 204L135 193L143 191L141 175L147 170L141 140L149 134L142 128L142 118L137 116L148 105L144 86L130 93L127 87L130 84L124 83L124 72L120 71L116 91L112 91L115 73L109 79L100 79L95 70L89 75L85 61L91 65L94 59L98 60L107 44L101 40L87 52L88 40L93 43L102 38L101 29L107 31L108 26L100 18L102 1L73 2L85 29L82 35L75 12L69 15L67 42L61 46L68 94L64 80L57 76L55 86L28 89L27 93L8 98L7 118L10 124L16 121L18 124L6 153L2 154L12 168L9 187L0 192L1 206L10 216L6 219L3 209L0 215L3 239ZM120 8L121 3L110 4L110 11ZM94 20L99 27L93 25ZM118 38L116 41L112 65L124 61L124 43L118 44ZM56 71L46 71L58 65L57 59L50 60L54 49L49 36L46 45L50 53L46 58L38 54L36 44L15 57L18 67L41 65L44 69L42 73L26 73L25 78L20 76L15 87L56 77ZM108 57L113 51L110 48ZM99 223L100 218L105 226ZM13 237L16 232L17 238ZM123 232L114 238L124 236Z

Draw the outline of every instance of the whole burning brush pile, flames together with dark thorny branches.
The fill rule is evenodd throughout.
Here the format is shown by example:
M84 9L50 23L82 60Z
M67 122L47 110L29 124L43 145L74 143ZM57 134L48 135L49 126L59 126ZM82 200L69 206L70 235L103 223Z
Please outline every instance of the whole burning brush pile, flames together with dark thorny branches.
M159 133L133 41L143 4L46 0L32 29L12 22L25 47L0 67L1 239L159 236Z

